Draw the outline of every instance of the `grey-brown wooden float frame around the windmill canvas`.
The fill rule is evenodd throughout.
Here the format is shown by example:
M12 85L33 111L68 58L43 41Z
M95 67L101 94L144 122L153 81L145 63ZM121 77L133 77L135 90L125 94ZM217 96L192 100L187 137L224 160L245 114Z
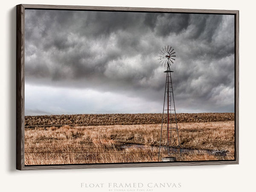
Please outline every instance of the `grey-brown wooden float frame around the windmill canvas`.
M192 13L234 15L234 160L207 160L182 162L150 162L150 163L99 163L99 164L55 164L25 165L25 10L79 10L79 11L113 11L113 12L157 12L157 13ZM59 6L59 5L17 5L17 53L16 53L16 169L86 169L86 168L118 168L118 167L151 167L151 166L191 166L191 165L227 165L239 164L239 11L207 10L207 9L171 9L171 8L135 8L135 7L103 7L103 6Z

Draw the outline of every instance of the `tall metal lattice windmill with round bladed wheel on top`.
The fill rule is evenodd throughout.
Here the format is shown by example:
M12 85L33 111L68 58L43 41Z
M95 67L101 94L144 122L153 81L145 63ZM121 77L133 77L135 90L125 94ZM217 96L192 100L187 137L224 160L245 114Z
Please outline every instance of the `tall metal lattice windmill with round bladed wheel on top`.
M163 47L158 56L160 63L166 67L166 85L163 101L163 116L160 134L160 144L158 160L160 158L160 149L165 148L168 153L168 157L163 157L163 161L176 161L173 154L179 153L180 151L180 139L177 126L177 116L175 110L174 94L172 88L172 70L170 69L171 64L175 61L175 50L171 46ZM165 140L165 141L163 141ZM163 143L163 144L162 144Z

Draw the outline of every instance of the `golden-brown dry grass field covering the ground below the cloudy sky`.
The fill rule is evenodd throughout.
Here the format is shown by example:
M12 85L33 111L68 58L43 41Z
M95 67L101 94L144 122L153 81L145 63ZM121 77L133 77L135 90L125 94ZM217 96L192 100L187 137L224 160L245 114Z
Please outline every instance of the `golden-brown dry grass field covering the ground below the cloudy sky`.
M178 121L180 147L183 151L181 157L178 153L174 154L178 161L234 159L234 113L183 114L177 114L183 117ZM73 115L70 119L26 116L26 126L30 127L25 128L25 165L158 161L161 129L159 115L129 114L130 119L125 120L128 125L109 125L112 122L110 117L116 118L119 123L122 121L122 118L120 120L115 115L118 117L122 114L105 115L103 125L97 125L99 119L89 118L85 121L89 124L86 126L74 125L82 124L79 116L83 115L77 118ZM158 123L145 124L146 119L150 119L148 116L157 116L149 122ZM207 118L208 122L204 122ZM34 122L31 122L32 119ZM137 125L132 123L134 120ZM50 125L41 126L39 122L41 125ZM53 122L58 126L51 126ZM66 122L72 126L61 125ZM164 136L163 133L162 145L166 144ZM161 148L160 160L166 155L166 149Z

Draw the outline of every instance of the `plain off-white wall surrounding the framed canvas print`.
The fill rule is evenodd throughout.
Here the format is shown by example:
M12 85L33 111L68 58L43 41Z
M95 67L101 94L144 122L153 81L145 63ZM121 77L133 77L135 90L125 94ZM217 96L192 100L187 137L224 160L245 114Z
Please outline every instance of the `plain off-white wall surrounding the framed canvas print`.
M255 189L255 4L238 0L7 0L1 4L1 64L0 64L0 189L1 191L108 191L108 188L81 188L80 183L181 183L180 188L158 188L154 192L222 192ZM233 9L240 11L240 78L239 78L239 165L227 166L182 166L127 169L79 169L79 170L15 170L15 49L16 49L16 5L57 4L83 6L130 6L165 7L189 9ZM137 190L137 189L135 189Z

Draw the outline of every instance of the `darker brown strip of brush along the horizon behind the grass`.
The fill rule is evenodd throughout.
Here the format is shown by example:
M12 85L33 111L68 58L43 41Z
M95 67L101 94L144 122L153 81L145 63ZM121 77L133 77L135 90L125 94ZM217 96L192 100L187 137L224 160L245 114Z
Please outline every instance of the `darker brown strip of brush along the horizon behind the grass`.
M162 113L80 114L25 116L25 126L37 125L145 125L160 124ZM164 115L165 119L167 115ZM234 120L234 113L177 113L177 122L214 122ZM172 114L172 121L175 116Z

